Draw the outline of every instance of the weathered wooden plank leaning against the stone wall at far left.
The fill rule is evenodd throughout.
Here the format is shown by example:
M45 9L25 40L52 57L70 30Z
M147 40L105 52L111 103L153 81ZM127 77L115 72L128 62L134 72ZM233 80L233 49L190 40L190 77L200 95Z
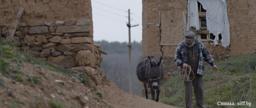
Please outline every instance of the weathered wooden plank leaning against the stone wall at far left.
M12 39L14 36L14 33L17 29L17 26L19 24L20 21L20 17L23 14L24 9L20 7L20 9L18 10L17 15L14 17L11 26L8 28L8 32L7 32L7 38L6 39Z

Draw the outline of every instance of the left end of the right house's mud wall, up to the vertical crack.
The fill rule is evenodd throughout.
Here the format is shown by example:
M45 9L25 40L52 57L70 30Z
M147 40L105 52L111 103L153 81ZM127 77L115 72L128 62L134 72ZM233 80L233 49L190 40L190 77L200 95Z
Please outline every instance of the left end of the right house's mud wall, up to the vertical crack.
M147 2L147 3L145 3ZM159 7L160 1L148 1L143 3L142 16L142 56L154 55L157 57L162 56L160 43L160 26L159 26Z

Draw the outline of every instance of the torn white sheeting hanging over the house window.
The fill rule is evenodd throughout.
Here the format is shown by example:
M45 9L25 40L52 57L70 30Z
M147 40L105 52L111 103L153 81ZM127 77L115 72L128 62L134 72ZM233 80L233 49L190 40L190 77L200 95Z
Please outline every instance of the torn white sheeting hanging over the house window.
M215 36L214 46L218 44L219 34L221 33L221 44L223 47L229 46L229 23L226 0L198 0L206 10L206 22L209 33ZM197 14L196 14L197 13ZM197 15L197 17L196 17ZM193 26L198 30L199 17L197 0L188 0L188 25L187 30Z

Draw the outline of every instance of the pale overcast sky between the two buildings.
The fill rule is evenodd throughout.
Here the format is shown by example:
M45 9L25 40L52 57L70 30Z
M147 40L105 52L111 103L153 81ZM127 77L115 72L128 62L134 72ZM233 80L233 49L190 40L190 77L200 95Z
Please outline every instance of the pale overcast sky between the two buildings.
M128 42L130 9L131 42L142 40L142 0L92 0L93 40Z

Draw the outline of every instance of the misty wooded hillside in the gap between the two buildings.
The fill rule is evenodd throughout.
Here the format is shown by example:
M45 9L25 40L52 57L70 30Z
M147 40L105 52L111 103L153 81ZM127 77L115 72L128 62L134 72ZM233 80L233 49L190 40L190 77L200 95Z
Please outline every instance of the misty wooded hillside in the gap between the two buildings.
M129 91L129 50L127 42L94 41L100 44L100 49L107 51L108 55L101 54L103 61L100 69L108 79L112 80L125 92ZM142 84L136 76L136 66L142 57L141 42L133 41L132 45L132 94L141 96Z

